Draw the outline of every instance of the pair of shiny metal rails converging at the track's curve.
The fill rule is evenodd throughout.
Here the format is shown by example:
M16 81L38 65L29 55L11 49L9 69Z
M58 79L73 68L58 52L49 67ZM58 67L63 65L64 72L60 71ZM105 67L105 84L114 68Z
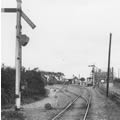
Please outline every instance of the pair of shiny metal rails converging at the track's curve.
M86 89L86 88L85 88ZM88 89L86 89L88 91ZM89 92L89 91L88 91ZM64 114L65 111L67 111L70 106L72 106L74 104L74 102L78 99L78 98L82 98L86 104L87 104L87 108L86 108L86 111L85 111L85 114L84 114L84 117L83 117L83 120L86 120L87 118L87 115L88 115L88 111L89 111L89 108L90 108L90 103L91 103L91 94L89 92L89 100L87 100L87 98L79 95L77 96L71 103L69 103L65 109L63 109L61 112L59 112L54 118L52 118L51 120L56 120L57 118L59 118L62 114Z

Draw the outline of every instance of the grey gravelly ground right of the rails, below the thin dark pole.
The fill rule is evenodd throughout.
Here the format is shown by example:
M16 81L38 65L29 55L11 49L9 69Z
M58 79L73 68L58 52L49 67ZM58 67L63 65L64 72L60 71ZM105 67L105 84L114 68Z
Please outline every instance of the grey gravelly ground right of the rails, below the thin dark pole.
M89 120L120 120L120 106L102 95L98 89L89 88L92 93L92 104Z

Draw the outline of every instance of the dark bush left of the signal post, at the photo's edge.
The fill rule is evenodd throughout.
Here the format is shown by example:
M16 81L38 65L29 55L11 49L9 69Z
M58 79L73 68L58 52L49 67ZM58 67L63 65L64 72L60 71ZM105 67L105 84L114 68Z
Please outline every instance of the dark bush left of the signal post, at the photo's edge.
M1 68L1 104L14 103L15 69Z

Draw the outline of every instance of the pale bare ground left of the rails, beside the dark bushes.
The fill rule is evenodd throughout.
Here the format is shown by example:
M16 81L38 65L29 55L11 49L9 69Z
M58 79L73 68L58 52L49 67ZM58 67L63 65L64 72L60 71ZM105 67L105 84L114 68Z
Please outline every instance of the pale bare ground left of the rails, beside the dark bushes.
M55 89L54 86L53 88ZM53 88L50 88L50 91L54 91ZM58 88L60 89L56 89L56 94L50 94L50 96L41 101L24 105L23 112L26 116L26 120L50 120L51 117L53 117L57 112L61 111L61 109L63 109L72 99L74 99L77 93L80 94L82 92L80 88L71 86L64 89L61 89L61 87L58 86ZM53 97L53 95L56 95L57 98ZM46 103L50 103L53 109L46 110L44 108Z

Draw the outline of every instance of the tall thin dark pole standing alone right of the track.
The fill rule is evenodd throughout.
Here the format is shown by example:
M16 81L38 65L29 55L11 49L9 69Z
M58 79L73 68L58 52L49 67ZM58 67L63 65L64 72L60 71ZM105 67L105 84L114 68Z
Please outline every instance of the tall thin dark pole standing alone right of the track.
M108 97L108 95L109 95L111 39L112 39L112 33L110 33L109 51L108 51L107 90L106 90L106 96L107 96L107 97Z

